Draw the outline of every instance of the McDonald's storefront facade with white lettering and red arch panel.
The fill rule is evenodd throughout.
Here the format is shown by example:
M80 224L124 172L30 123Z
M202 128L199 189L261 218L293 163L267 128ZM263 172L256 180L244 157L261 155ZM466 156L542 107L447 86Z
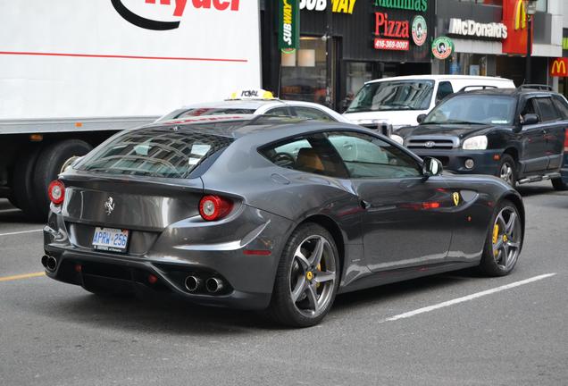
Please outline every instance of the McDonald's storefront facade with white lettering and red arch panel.
M538 0L532 19L530 83L553 85L550 58L562 53L565 0ZM525 83L527 36L522 0L438 0L436 33L452 38L455 52L434 59L434 73L501 76Z

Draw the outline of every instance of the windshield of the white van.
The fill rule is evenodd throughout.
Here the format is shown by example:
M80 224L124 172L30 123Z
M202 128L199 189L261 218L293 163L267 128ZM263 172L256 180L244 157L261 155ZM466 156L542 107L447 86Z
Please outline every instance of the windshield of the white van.
M392 80L367 83L346 113L396 110L428 110L433 80Z

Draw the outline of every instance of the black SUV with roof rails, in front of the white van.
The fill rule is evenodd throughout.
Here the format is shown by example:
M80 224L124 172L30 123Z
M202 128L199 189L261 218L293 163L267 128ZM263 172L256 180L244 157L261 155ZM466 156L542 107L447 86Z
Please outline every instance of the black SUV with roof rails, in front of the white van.
M553 180L556 189L565 188L568 101L547 86L461 91L418 122L391 138L450 171L492 174L512 186Z

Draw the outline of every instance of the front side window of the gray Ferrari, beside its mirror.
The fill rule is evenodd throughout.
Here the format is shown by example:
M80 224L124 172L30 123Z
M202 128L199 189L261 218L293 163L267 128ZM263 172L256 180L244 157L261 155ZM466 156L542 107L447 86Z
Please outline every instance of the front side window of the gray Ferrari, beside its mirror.
M422 176L420 164L404 150L380 138L356 132L330 132L351 178L395 179Z

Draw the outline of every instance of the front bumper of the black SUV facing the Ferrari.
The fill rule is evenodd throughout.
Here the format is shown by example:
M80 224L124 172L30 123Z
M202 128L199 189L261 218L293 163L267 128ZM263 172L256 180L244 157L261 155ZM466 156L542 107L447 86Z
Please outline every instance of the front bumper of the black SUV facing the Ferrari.
M414 154L420 157L431 156L438 158L444 168L452 172L461 174L489 174L497 175L497 169L500 162L502 150L439 150L439 149L422 149L411 148ZM496 160L494 157L499 156ZM465 167L465 161L473 160L473 167L468 169Z

